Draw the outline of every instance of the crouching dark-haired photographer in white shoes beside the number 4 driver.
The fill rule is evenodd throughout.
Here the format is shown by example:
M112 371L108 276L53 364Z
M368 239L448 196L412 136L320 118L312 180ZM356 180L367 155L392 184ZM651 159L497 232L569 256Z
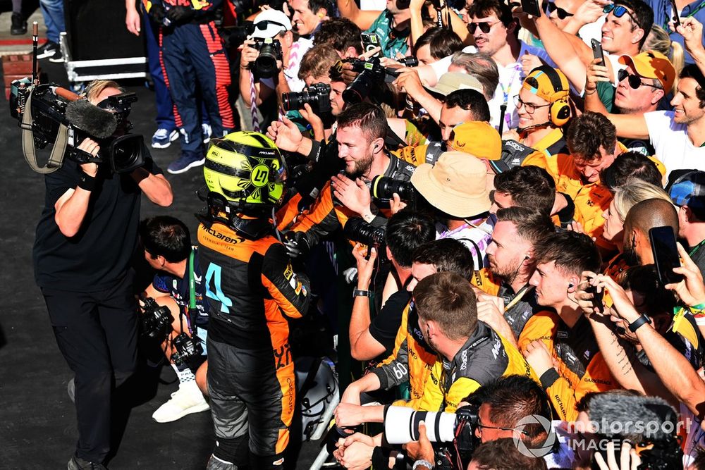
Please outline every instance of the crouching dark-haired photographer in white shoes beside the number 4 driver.
M157 423L168 423L209 409L204 398L208 363L201 359L209 303L198 247L191 245L185 223L170 216L147 218L140 223L140 241L147 263L158 271L145 296L168 307L172 318L171 332L165 335L164 328L159 340L164 339L162 349L176 372L178 390L152 414Z

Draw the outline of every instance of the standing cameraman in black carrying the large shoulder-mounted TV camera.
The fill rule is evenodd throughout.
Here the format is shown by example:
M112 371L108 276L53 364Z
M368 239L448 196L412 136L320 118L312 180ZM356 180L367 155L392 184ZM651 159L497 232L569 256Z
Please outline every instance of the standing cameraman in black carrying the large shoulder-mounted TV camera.
M87 87L85 98L97 105L121 92L116 82L100 80ZM78 149L96 156L100 147L87 138ZM33 255L56 342L75 373L79 438L69 469L103 468L111 397L135 370L137 303L130 260L141 196L160 206L173 198L161 169L144 146L142 151L145 164L131 173L65 159L44 179L46 205Z

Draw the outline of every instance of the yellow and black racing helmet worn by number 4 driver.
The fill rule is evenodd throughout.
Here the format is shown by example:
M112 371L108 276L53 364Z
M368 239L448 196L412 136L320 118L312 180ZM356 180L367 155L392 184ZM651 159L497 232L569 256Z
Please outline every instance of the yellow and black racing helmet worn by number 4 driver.
M286 162L269 137L243 130L211 140L203 175L236 210L265 209L281 204Z

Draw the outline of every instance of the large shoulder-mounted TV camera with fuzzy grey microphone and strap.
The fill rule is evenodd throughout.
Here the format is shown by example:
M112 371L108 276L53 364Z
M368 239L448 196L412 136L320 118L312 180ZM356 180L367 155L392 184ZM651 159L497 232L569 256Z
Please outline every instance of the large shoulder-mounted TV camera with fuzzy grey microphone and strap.
M23 130L23 153L32 170L51 173L64 156L78 163L106 163L114 173L129 173L145 163L142 135L130 134L127 120L135 93L121 93L97 105L56 84L37 85L30 78L10 85L10 114ZM98 142L97 156L78 149L86 138ZM51 144L44 166L35 149Z

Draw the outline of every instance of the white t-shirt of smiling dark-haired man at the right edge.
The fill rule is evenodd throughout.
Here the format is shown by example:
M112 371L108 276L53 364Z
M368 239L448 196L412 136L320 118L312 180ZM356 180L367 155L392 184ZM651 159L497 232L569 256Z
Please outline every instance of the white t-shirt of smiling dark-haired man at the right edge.
M666 177L674 170L705 171L705 147L695 147L685 124L673 122L673 111L644 113L649 141L656 158L666 166Z

